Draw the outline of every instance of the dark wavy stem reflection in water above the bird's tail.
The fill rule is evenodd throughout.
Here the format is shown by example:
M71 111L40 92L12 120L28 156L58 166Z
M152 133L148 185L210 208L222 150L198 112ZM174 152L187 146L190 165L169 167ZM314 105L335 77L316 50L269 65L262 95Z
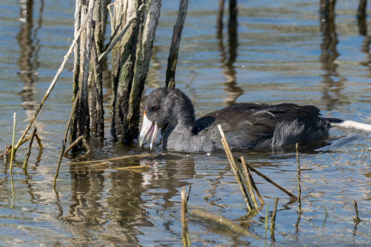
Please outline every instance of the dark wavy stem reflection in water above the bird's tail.
M340 92L346 79L336 71L338 64L335 63L335 60L338 58L339 53L336 50L338 38L335 26L335 0L321 0L320 6L323 36L320 61L322 63L322 69L325 71L322 75L322 99L326 102L326 109L329 110L342 100ZM338 80L334 81L334 77L338 77ZM331 96L330 92L335 93L335 96Z

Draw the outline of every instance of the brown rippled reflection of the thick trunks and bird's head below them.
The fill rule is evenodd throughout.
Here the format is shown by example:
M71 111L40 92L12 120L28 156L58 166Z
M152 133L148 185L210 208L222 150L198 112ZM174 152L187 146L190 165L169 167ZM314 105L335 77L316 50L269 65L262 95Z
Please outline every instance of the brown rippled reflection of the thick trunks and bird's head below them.
M150 168L119 170L123 164L145 164ZM101 169L102 166L106 169ZM137 246L138 236L143 235L139 229L155 227L153 221L158 218L168 231L176 232L178 226L174 222L178 218L174 207L180 188L189 186L187 180L196 175L193 167L191 159L164 161L141 157L138 160L130 156L122 162L111 160L109 167L106 163L98 167L90 163L70 164L72 195L68 209L58 219L77 236L72 240L76 246L88 246L92 241Z

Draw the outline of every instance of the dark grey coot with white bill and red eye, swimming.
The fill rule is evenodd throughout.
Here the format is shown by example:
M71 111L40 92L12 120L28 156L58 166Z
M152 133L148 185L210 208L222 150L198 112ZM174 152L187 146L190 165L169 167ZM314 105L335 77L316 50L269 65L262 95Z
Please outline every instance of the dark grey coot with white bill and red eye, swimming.
M144 102L139 145L165 127L162 146L167 150L209 152L223 148L220 124L230 148L278 150L295 143L308 143L328 136L332 126L356 127L371 131L368 124L321 117L315 106L240 103L213 111L196 120L191 100L181 90L160 88ZM361 126L349 126L361 124Z

